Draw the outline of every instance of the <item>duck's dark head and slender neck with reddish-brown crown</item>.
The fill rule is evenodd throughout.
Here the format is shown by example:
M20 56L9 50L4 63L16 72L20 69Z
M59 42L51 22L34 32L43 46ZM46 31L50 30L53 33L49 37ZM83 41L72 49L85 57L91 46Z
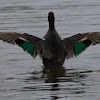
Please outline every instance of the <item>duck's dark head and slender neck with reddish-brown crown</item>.
M55 25L55 17L54 17L54 13L53 12L49 12L48 13L48 22L49 22L49 29L54 29Z

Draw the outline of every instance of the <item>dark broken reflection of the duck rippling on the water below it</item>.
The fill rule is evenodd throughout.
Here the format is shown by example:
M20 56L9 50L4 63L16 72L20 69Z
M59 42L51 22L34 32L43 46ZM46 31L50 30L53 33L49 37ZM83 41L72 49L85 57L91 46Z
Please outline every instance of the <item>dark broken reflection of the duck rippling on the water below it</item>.
M24 91L54 91L58 92L56 95L51 95L52 100L62 98L59 96L59 91L62 95L69 94L83 94L89 88L84 84L89 73L93 71L78 71L78 69L65 69L64 67L43 68L41 72L31 72L31 76L25 79L25 82L31 83L31 86L23 87ZM43 85L34 86L34 81L44 81Z

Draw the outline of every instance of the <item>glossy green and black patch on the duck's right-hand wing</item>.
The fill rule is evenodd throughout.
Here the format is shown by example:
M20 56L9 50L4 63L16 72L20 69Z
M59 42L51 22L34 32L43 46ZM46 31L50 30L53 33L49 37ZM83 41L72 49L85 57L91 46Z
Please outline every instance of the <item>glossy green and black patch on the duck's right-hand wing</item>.
M89 39L86 39L84 41L81 41L81 42L74 44L75 56L79 55L82 51L84 51L91 44L92 44L92 41Z

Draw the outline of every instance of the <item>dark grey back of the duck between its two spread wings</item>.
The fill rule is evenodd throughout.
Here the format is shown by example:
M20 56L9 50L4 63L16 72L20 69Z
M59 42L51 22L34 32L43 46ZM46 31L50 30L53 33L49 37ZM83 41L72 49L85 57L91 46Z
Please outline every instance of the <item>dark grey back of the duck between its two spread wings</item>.
M56 30L54 30L48 31L47 34L44 36L44 39L44 48L46 48L46 51L44 52L46 53L48 51L48 54L51 54L52 57L50 57L49 59L46 57L42 57L43 64L47 67L62 66L65 60L65 56L64 45L63 41L61 40L61 37L56 32Z

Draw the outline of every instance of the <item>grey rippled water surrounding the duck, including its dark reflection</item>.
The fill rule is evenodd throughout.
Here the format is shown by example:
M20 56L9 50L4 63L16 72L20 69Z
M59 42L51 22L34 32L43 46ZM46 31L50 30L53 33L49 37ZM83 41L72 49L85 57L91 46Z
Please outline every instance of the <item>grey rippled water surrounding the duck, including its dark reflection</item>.
M0 0L0 31L42 37L49 11L62 38L100 31L99 0ZM100 100L100 45L45 69L39 57L0 41L0 100Z

